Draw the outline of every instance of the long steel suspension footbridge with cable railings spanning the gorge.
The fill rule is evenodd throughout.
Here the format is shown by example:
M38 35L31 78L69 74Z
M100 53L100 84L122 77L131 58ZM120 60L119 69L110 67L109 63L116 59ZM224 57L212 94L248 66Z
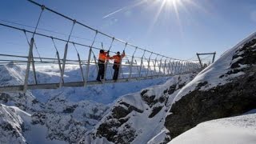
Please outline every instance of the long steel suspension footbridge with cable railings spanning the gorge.
M96 30L82 22L78 22L74 18L70 18L64 14L58 13L55 10L50 9L47 6L27 0L32 5L38 7L41 10L38 14L37 24L34 30L27 30L21 26L14 26L14 23L6 24L0 22L2 29L13 30L17 33L24 34L24 41L27 43L28 54L0 54L0 65L20 65L24 67L25 74L24 80L21 85L4 85L0 86L0 92L16 92L35 89L57 89L62 86L88 86L88 85L102 85L104 83L113 83L112 80L112 66L111 61L106 61L106 72L104 81L98 82L95 77L90 78L90 74L98 74L98 52L99 50L109 50L110 55L115 54L113 47L115 43L118 43L119 51L126 52L126 57L122 58L122 62L119 66L119 75L117 82L131 82L144 79L152 79L159 77L168 77L178 74L187 74L194 70L201 68L202 64L199 62L181 60L177 58L170 58L162 54L155 53L150 50L143 49L139 46L135 46L130 42L125 42L121 39L105 34L99 30ZM68 38L60 38L58 36L52 36L50 34L44 34L38 32L40 29L38 25L41 22L42 15L44 13L54 14L60 18L64 18L67 22L71 22L70 34ZM76 26L80 26L94 33L90 43L84 44L76 41L73 31ZM42 31L42 30L41 30ZM29 38L30 36L30 38ZM48 42L52 43L54 51L54 57L46 58L42 57L42 54L38 50L38 38L45 38ZM73 38L73 39L71 39ZM100 42L100 38L108 39L110 45L106 46L106 43ZM63 43L63 46L58 46L56 43ZM95 46L95 43L100 43L99 46ZM36 44L37 43L37 44ZM78 50L78 47L80 48ZM67 58L70 54L70 49L74 50L77 54L76 58ZM62 51L62 54L60 53ZM81 52L82 51L82 52ZM83 54L81 54L83 53ZM37 55L37 56L36 56ZM40 82L38 78L38 66L57 66L58 67L58 82ZM78 66L78 75L80 78L77 82L66 81L66 66L75 65ZM32 79L32 80L31 80Z

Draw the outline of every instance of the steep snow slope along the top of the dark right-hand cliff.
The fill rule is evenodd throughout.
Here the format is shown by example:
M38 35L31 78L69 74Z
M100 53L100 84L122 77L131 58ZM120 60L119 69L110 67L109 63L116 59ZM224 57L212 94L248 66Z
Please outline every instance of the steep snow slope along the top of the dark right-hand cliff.
M218 58L216 62L206 67L205 70L202 70L193 81L182 88L174 102L193 90L210 90L213 87L223 86L228 82L232 82L232 78L246 74L243 70L254 64L256 59L255 50L256 33L251 34L232 49L227 50L222 54L221 58Z

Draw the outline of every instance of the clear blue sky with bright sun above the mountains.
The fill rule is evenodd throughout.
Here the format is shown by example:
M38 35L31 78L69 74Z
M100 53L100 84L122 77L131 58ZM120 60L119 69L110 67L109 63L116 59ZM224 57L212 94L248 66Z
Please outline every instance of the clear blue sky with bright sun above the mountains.
M115 38L171 58L190 60L196 58L196 53L214 51L218 58L256 30L255 0L34 1ZM40 7L26 0L2 0L0 22L34 30L40 12ZM67 39L71 27L72 22L44 11L38 32ZM28 46L22 32L3 26L0 31L0 53L27 55ZM75 25L72 36L72 41L90 45L94 31ZM49 38L35 37L35 41L39 54L54 56L54 46ZM108 49L111 39L98 36L95 46L100 47L101 42ZM64 44L56 42L56 46L63 53ZM77 48L79 53L86 55L86 50ZM114 42L111 50L123 49L124 44ZM130 54L133 50L133 47L126 48ZM74 49L70 50L72 54L75 57Z

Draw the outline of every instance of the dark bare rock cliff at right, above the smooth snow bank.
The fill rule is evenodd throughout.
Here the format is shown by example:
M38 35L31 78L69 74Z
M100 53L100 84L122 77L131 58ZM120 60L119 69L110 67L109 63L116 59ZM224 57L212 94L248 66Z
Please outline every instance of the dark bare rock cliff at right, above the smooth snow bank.
M183 95L182 92L178 94L179 98L171 106L165 122L171 138L198 123L243 114L256 108L256 38L252 37L235 47L230 58L226 58L230 61L229 66L223 66L225 70L222 73L225 74L218 73L219 77L211 82L201 78L194 89L186 90ZM218 64L215 62L214 65ZM214 82L218 83L217 86L211 86Z

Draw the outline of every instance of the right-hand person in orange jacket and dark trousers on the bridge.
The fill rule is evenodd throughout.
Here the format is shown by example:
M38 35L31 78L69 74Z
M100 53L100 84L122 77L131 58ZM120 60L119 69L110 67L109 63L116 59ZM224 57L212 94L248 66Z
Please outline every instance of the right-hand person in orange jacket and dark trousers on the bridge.
M120 62L121 62L122 58L124 58L125 56L126 56L126 54L125 54L125 51L123 50L122 55L120 55L120 52L118 51L116 53L116 55L110 57L110 59L114 59L114 65L113 65L113 69L114 69L113 80L114 81L118 80Z

